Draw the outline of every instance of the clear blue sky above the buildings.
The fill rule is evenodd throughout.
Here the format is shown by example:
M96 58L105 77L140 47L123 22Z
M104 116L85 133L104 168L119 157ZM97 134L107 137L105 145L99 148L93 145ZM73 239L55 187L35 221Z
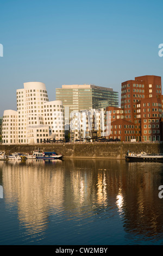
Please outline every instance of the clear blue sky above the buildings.
M16 110L24 82L111 87L135 76L162 77L163 1L5 0L0 2L0 117Z

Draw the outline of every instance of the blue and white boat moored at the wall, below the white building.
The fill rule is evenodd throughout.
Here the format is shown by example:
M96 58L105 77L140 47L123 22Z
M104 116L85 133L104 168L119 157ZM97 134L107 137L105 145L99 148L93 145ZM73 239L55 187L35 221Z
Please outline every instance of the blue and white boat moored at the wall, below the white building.
M43 160L56 160L63 157L61 154L57 154L56 152L43 152L42 150L33 151L33 155L36 159Z

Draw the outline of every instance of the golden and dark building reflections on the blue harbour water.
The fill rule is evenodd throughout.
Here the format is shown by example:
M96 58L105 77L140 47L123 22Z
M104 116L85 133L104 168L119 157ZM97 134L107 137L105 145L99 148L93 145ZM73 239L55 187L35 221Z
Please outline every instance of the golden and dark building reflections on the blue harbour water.
M117 216L127 234L163 232L159 163L110 160L1 162L5 204L30 234L46 231L52 216L60 221ZM163 182L162 182L163 184Z

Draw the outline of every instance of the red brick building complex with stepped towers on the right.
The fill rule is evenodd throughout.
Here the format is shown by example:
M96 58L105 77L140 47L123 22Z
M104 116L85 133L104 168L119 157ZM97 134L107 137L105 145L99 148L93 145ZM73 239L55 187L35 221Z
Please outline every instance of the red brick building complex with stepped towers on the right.
M160 76L139 76L122 83L121 108L107 107L110 135L121 141L161 141L163 95ZM106 118L107 119L107 118ZM109 124L105 123L106 128Z

